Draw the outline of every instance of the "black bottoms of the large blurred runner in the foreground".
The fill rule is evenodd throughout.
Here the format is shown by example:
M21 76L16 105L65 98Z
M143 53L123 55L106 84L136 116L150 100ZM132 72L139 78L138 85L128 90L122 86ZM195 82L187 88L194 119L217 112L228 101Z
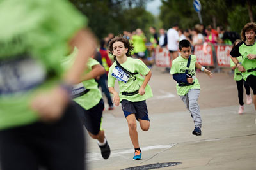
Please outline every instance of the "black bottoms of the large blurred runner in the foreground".
M85 169L84 132L73 104L58 122L0 131L1 170Z

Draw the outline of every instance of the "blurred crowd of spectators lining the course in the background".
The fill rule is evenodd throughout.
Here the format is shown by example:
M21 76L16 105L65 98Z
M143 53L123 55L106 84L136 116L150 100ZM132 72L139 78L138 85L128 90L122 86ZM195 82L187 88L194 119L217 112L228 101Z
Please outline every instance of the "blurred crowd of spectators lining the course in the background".
M134 45L132 56L143 60L147 66L152 65L148 60L152 57L154 58L154 50L156 48L167 48L170 52L171 60L178 57L178 43L182 39L188 39L192 49L194 49L195 45L204 43L232 45L236 39L240 39L237 32L224 29L222 26L214 29L211 25L204 27L202 24L196 24L193 28L187 29L181 29L179 25L173 24L170 29L160 28L159 31L157 31L156 27L150 26L148 31L150 36L146 36L140 28L132 32L126 30L122 32L124 38L129 39ZM108 46L113 37L114 34L109 33L106 38L102 39L105 42L105 46ZM113 62L113 56L109 55L109 58Z

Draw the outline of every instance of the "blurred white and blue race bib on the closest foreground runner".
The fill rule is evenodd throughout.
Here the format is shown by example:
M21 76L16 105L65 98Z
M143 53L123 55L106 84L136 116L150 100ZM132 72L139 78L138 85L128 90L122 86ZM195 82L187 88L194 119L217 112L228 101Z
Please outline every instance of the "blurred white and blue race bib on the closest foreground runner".
M0 95L26 92L42 84L46 69L32 58L3 60L0 62Z

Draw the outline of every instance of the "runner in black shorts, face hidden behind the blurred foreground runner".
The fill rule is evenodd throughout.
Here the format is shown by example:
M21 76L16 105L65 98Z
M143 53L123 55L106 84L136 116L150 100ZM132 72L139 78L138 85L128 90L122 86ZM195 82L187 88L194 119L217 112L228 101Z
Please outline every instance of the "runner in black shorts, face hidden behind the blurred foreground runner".
M62 66L71 66L77 53L78 49L75 47L74 51L63 59ZM102 157L108 159L111 151L104 130L101 128L104 101L98 83L95 81L97 76L105 74L106 71L97 60L92 58L88 60L86 67L83 76L73 86L71 97L75 101L74 105L76 105L82 124L88 134L93 139L97 139Z

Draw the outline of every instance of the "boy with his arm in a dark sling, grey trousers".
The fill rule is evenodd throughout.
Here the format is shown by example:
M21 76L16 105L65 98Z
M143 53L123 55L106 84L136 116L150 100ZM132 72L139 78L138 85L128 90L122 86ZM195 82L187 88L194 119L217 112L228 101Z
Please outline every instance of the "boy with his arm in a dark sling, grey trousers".
M179 51L180 56L173 60L170 73L177 81L177 94L186 104L186 108L194 120L195 129L192 134L199 136L201 135L202 119L198 105L200 85L196 78L196 69L201 69L209 77L212 77L212 73L196 62L196 56L191 55L191 44L188 40L179 42Z

